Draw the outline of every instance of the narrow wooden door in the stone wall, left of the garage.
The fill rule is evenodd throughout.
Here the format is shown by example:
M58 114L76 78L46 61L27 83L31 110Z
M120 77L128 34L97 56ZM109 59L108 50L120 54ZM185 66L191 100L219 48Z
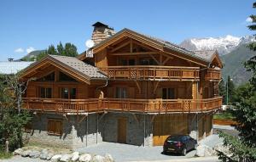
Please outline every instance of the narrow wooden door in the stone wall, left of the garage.
M126 123L127 119L118 119L118 142L126 143Z

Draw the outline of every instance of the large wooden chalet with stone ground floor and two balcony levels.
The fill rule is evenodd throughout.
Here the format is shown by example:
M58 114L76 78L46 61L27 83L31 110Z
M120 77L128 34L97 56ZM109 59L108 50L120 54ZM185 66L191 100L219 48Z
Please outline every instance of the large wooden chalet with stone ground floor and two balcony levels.
M24 70L23 108L34 116L26 137L79 148L102 141L155 146L172 134L197 140L212 134L212 115L222 104L216 51L93 26L92 55L48 55Z

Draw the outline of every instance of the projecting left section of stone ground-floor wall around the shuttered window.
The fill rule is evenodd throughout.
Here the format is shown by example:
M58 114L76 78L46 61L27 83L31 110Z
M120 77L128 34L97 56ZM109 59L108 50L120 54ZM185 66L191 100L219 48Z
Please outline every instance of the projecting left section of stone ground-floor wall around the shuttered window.
M32 119L32 131L24 133L23 137L29 142L37 142L46 145L55 145L65 148L82 148L89 145L102 142L101 126L96 126L97 115L88 115L88 119L80 115L77 116L54 114L34 115ZM48 119L61 119L62 120L62 135L55 136L47 133ZM88 130L87 122L88 121ZM87 134L88 133L88 134Z

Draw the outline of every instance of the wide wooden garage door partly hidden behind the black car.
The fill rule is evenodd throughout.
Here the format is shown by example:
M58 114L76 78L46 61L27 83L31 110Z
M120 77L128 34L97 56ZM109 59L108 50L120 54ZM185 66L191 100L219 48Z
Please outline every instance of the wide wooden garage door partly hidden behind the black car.
M187 134L187 115L158 115L154 118L153 142L154 146L163 145L166 137L173 134Z

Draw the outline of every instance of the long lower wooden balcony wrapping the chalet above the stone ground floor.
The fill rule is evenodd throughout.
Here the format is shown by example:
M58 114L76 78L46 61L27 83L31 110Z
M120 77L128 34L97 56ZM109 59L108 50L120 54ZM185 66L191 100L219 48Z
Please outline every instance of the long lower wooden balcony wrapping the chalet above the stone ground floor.
M206 112L220 108L222 98L193 99L45 99L23 98L23 108L42 112L93 113L103 111L141 113Z

